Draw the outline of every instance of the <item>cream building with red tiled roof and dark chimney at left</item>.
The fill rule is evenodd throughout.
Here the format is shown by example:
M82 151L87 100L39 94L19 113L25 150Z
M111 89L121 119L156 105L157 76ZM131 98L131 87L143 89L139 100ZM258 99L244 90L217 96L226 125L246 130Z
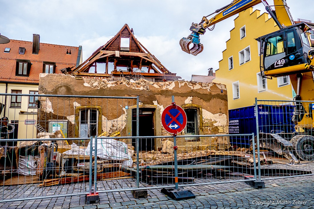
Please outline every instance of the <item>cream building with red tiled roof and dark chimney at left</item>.
M82 63L82 47L44 44L33 34L33 42L11 40L0 44L0 93L34 94L0 96L0 118L7 117L15 131L9 138L36 138L39 75L61 73Z

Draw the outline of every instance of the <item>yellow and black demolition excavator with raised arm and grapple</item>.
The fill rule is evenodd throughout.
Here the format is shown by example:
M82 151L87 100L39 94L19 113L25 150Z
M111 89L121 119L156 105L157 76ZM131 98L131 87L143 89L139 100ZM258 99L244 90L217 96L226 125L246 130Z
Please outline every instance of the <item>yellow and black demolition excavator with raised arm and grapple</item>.
M192 33L180 40L180 46L183 51L198 55L203 51L200 35L203 35L206 29L213 30L216 23L263 3L279 30L256 38L260 42L261 50L260 71L261 75L268 79L290 76L291 84L296 89L292 116L295 132L258 133L259 144L261 148L284 155L290 159L290 164L300 163L300 160L314 161L314 45L311 44L309 32L312 28L304 22L295 24L285 0L273 2L274 10L266 0L232 1L214 13L204 16L199 24L192 23ZM208 19L211 15L214 17Z

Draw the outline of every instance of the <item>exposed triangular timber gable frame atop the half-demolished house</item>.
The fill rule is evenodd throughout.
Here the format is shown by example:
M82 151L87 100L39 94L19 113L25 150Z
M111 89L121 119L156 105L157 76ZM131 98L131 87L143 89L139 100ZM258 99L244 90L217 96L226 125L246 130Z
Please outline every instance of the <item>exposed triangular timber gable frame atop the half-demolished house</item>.
M122 39L129 39L129 47L122 46ZM124 43L125 44L125 43ZM106 69L97 72L97 63L105 63ZM109 65L111 64L111 69ZM112 66L113 65L113 66ZM94 68L95 71L93 71ZM144 68L143 68L144 67ZM92 68L92 69L91 69ZM112 69L113 68L113 69ZM119 68L123 68L121 70ZM175 73L168 71L134 36L133 30L125 24L105 45L98 48L86 61L76 68L67 69L74 76L132 77L161 80L178 80ZM110 72L111 71L111 72Z

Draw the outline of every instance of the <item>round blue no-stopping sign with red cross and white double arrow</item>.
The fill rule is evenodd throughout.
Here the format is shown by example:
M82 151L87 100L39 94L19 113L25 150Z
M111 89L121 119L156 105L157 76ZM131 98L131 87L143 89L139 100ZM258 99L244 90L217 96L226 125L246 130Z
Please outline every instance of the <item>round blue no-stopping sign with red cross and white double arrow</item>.
M161 124L169 133L177 134L187 125L187 115L176 103L167 106L161 114Z

